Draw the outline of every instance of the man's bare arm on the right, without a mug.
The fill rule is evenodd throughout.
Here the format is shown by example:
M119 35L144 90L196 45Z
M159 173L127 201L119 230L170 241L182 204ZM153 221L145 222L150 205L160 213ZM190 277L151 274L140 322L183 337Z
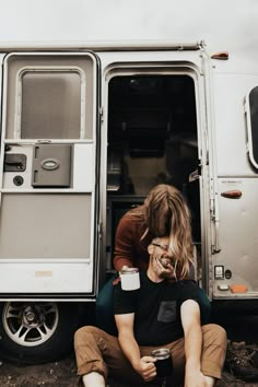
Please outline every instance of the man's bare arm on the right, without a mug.
M185 333L185 387L208 386L206 376L201 373L202 330L200 325L200 308L196 301L187 300L180 307L181 325Z

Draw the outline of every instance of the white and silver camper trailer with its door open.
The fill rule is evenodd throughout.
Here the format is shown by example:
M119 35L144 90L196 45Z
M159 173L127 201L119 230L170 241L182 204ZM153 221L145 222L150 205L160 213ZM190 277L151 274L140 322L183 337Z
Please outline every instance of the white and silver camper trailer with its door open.
M210 300L258 301L255 63L202 42L2 45L0 61L5 354L66 351L114 272L120 216L159 183L188 201Z

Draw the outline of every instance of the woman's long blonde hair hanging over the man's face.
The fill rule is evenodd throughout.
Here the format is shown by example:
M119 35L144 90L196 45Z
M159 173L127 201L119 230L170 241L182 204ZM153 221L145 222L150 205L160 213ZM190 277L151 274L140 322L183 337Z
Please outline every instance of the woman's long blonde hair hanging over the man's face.
M146 232L169 237L177 272L185 278L192 263L192 238L190 211L183 195L165 184L154 187L144 201L143 215Z

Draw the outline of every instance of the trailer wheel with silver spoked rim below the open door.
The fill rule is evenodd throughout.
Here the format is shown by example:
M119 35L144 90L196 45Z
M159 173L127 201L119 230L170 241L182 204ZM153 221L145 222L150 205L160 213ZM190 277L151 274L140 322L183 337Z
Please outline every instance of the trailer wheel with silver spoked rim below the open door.
M0 353L24 364L57 360L72 348L78 307L72 303L0 304Z

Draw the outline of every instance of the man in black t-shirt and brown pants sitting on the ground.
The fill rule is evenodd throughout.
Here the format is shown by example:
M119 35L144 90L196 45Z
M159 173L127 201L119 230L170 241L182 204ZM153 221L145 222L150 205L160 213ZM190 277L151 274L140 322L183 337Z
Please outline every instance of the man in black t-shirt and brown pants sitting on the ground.
M75 332L78 373L85 387L104 387L108 375L131 385L153 380L156 360L151 352L161 347L172 353L173 384L183 376L185 387L211 387L221 378L226 333L214 324L201 326L198 286L181 275L190 259L176 259L172 244L159 237L149 245L139 290L115 285L118 338L90 326Z

